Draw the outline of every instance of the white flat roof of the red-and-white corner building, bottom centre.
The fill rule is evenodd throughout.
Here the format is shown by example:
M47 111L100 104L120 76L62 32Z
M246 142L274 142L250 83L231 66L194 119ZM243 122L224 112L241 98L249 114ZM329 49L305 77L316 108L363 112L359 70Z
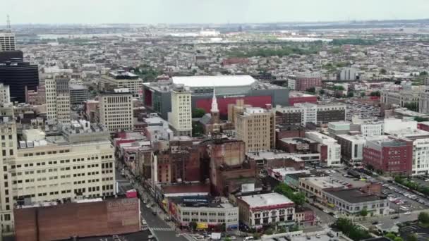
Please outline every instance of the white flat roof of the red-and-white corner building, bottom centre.
M278 194L277 192L254 194L238 198L243 200L243 202L246 202L250 208L294 203L291 199L284 197L282 194Z

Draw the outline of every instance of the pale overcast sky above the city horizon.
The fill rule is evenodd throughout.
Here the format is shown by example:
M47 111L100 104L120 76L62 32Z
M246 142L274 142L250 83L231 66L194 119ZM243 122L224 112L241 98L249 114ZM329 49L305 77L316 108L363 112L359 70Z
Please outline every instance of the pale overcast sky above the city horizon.
M1 0L13 23L268 23L429 18L429 0Z

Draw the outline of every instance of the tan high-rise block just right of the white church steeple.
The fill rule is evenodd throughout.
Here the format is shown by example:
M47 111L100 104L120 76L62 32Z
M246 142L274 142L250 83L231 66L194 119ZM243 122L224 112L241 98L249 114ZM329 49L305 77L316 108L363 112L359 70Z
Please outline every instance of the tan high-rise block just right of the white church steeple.
M234 121L237 140L246 143L246 152L266 151L275 147L275 114L271 110L246 107Z

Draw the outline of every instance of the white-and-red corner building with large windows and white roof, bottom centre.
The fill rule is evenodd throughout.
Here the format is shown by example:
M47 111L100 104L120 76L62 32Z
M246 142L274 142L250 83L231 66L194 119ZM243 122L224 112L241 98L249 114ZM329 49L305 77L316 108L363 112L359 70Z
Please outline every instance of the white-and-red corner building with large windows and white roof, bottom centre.
M237 197L240 221L251 228L270 223L294 224L295 204L277 192Z

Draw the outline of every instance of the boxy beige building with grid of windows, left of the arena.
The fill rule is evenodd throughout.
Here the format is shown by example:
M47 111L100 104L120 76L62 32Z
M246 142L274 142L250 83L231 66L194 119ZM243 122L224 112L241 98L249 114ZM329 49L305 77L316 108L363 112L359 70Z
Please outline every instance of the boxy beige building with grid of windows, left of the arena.
M99 96L99 123L110 132L133 130L133 94L126 89L114 89Z

